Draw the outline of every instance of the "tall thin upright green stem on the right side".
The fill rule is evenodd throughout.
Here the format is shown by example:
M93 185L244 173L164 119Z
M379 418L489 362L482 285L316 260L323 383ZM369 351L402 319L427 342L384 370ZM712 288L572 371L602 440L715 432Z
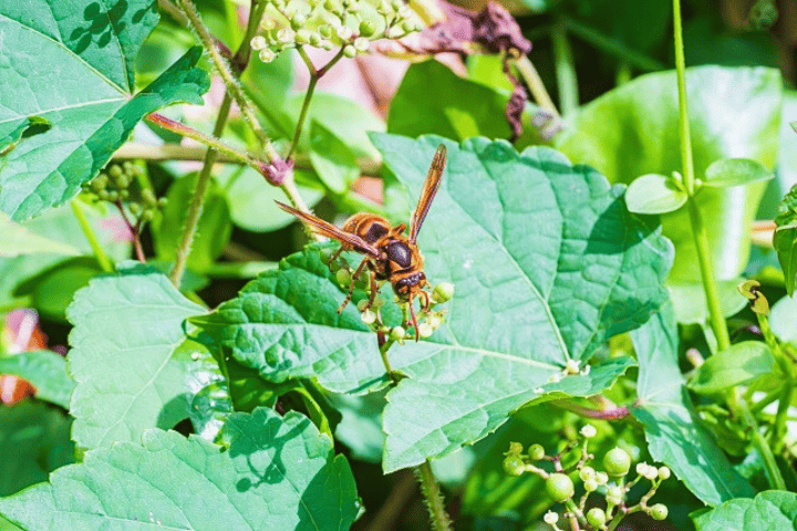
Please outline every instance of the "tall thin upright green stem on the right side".
M731 346L731 336L725 324L722 304L720 302L720 290L716 279L714 278L714 268L712 266L711 249L708 247L708 237L703 225L697 202L695 201L695 175L694 163L692 160L692 140L690 137L689 117L686 107L686 62L684 60L683 29L681 24L681 0L673 0L673 25L675 33L675 70L677 72L679 88L679 125L681 128L681 162L683 167L683 184L689 200L686 206L692 222L692 233L697 249L697 262L701 270L701 280L706 295L706 303L711 316L711 324L714 335L716 336L720 351L724 351ZM767 480L773 489L785 490L786 483L780 475L780 470L775 462L775 456L772 448L764 439L758 430L758 424L751 413L747 403L739 400L738 389L733 388L727 397L728 407L738 417L741 417L745 427L749 430L753 445L764 460Z

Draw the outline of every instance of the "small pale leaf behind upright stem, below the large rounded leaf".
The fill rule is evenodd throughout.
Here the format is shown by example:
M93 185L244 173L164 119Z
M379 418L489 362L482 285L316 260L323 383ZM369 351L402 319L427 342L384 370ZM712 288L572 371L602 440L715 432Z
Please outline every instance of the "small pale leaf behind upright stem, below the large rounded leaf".
M736 315L749 302L736 288L744 279L736 278L717 282L720 305L723 315ZM667 282L670 300L675 308L675 319L682 324L705 324L708 322L708 305L705 289L700 282Z

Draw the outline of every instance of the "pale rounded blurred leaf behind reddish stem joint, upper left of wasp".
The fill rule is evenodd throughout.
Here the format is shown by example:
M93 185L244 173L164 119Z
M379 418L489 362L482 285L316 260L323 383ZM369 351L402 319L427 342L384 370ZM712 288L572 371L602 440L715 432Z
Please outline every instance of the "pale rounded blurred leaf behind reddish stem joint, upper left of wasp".
M301 170L294 171L299 178L301 174ZM262 175L253 169L247 167L239 171L225 171L217 180L227 191L230 216L236 226L256 232L271 232L296 221L296 216L275 205L275 201L284 202L284 192L276 186L267 186ZM301 185L298 188L304 202L311 208L324 196L318 188Z

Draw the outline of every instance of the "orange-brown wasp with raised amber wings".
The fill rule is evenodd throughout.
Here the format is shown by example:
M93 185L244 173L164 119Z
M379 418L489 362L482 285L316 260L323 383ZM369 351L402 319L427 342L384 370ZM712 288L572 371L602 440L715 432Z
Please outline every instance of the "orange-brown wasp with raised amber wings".
M340 257L341 252L354 250L365 254L356 271L352 275L351 285L345 300L338 309L341 313L351 301L354 292L354 282L360 273L368 268L371 272L371 293L364 310L371 308L379 292L377 281L387 280L393 285L393 291L398 299L406 301L410 305L412 324L415 327L415 341L420 339L417 316L413 306L413 298L423 299L423 308L429 309L429 293L424 290L428 282L423 271L423 257L418 251L416 241L426 215L428 214L432 200L439 189L443 169L446 163L446 148L444 145L437 147L432 166L429 166L426 180L424 181L421 198L413 211L410 221L410 236L404 236L405 223L392 227L391 223L375 214L355 214L349 218L343 228L324 221L311 214L302 212L288 205L277 201L282 210L286 210L304 221L310 230L317 235L332 238L341 242L340 249L332 254L330 262Z

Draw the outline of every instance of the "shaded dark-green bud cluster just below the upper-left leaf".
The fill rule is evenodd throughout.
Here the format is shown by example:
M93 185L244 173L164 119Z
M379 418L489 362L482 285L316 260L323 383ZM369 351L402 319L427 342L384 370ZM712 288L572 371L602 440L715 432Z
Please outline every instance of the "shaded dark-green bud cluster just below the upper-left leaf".
M137 225L151 221L155 212L166 206L166 198L157 198L152 188L139 188L136 199L132 198L131 189L137 187L138 178L144 169L131 162L107 166L90 183L83 185L83 197L89 202L107 201L121 207L127 205L130 212L136 218Z

